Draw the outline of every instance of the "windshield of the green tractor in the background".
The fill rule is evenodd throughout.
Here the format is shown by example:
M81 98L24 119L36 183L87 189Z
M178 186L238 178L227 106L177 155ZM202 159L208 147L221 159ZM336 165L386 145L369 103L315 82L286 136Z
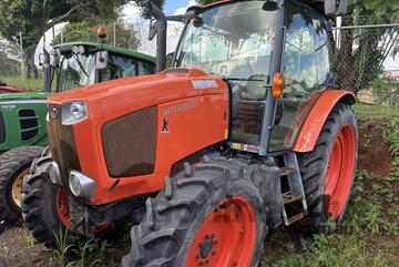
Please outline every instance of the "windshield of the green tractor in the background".
M94 54L65 54L61 61L60 91L95 83Z

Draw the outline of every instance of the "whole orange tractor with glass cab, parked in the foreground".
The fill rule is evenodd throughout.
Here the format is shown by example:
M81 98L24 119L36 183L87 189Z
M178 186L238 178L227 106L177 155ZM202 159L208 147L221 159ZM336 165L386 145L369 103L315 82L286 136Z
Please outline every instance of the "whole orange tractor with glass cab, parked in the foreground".
M160 73L49 99L49 148L23 219L105 235L133 223L123 266L257 266L268 230L342 219L357 162L351 92L336 90L328 17L346 1L221 1L156 19ZM166 21L185 28L165 66Z

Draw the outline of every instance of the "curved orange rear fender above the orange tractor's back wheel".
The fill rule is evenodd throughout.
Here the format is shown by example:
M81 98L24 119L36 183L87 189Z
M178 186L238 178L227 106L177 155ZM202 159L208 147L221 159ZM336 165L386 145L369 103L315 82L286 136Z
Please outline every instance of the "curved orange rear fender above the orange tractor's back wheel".
M355 103L352 92L344 90L324 91L301 125L293 151L300 153L313 151L329 113L338 102L347 100L347 97L350 99L351 104Z

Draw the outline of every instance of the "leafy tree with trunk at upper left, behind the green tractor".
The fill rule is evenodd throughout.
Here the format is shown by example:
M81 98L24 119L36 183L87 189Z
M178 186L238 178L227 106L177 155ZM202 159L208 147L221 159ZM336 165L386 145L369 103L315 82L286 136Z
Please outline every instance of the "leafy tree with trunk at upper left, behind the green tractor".
M79 21L96 13L116 18L115 10L124 0L6 0L0 1L0 33L19 47L22 34L24 74L38 78L33 57L43 33L53 25L65 21Z

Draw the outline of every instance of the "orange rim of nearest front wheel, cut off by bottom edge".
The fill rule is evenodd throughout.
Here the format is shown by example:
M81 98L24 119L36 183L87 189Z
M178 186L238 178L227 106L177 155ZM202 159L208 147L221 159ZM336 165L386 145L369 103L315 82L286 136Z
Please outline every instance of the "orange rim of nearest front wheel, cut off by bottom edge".
M200 227L185 266L249 266L255 249L255 212L247 199L225 201Z

